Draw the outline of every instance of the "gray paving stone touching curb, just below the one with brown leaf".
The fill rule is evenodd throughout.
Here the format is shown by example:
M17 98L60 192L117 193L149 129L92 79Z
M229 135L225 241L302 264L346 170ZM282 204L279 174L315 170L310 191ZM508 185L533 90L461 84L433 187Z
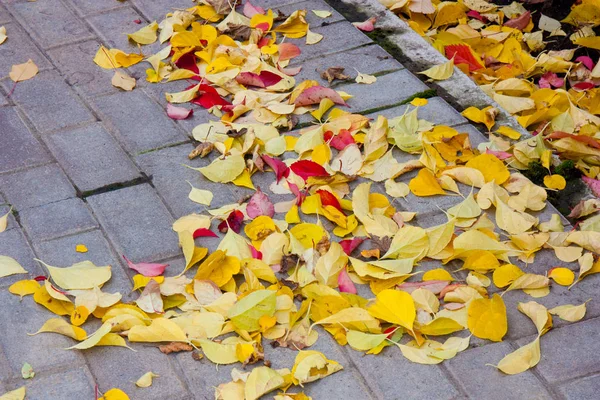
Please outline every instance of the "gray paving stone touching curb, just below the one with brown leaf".
M352 113L398 104L413 94L427 89L429 89L427 85L405 69L379 76L377 81L370 85L354 83L340 88L354 96L347 101L350 106L348 111ZM382 96L382 93L385 95Z

